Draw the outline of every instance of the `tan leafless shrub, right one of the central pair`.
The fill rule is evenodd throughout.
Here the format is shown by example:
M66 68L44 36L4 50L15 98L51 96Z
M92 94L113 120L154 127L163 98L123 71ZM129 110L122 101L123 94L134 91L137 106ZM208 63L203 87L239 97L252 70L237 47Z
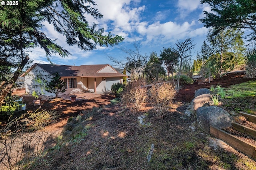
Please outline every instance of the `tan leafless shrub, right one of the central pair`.
M163 117L176 94L175 87L168 83L154 84L148 95L148 100L154 107L156 117Z

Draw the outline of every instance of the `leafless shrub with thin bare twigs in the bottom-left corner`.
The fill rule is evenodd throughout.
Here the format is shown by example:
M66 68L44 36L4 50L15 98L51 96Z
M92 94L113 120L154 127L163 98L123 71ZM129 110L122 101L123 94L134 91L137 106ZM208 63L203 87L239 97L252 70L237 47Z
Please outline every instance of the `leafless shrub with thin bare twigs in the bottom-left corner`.
M46 145L50 146L54 141L53 133L42 129L56 117L54 111L37 110L10 120L0 130L0 166L9 170L21 169L38 157Z

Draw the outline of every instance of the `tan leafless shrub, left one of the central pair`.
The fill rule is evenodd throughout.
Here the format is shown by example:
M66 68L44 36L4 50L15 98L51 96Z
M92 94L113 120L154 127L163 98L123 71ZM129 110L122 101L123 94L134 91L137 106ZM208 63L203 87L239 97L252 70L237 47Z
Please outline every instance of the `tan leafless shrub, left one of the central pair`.
M140 86L128 86L121 95L121 102L127 106L132 104L135 111L139 111L147 99L147 89Z

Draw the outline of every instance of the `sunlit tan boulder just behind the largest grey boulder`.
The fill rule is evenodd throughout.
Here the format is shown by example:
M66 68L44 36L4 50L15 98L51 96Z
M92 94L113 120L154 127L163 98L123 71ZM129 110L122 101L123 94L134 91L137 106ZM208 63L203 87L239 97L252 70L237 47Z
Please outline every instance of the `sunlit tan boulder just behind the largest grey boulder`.
M192 115L196 114L196 110L199 107L205 106L205 105L211 105L212 101L212 94L202 94L200 96L197 96L194 98L191 102L190 111Z

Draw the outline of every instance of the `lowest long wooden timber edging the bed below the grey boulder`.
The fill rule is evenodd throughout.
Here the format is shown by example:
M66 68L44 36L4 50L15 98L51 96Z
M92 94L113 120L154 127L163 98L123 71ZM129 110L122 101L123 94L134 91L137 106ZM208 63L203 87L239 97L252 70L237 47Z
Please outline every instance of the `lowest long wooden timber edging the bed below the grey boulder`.
M231 147L240 150L240 152L243 152L244 154L250 156L252 159L256 160L255 145L247 143L246 141L243 141L234 135L231 135L225 131L222 131L221 129L212 126L210 126L210 135L221 139L222 141L228 143L228 145Z

